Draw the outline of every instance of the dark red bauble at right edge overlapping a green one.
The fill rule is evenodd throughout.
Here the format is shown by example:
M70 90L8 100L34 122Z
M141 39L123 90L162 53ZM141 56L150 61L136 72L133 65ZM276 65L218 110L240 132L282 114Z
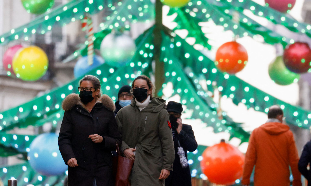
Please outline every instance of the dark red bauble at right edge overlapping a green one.
M306 73L311 62L311 49L307 43L296 42L284 50L283 61L288 70Z

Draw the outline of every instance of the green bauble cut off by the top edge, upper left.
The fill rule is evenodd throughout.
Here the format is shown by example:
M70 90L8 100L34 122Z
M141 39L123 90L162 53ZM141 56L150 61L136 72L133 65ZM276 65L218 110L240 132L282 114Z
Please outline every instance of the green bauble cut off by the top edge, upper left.
M43 14L54 5L54 0L21 0L28 13Z

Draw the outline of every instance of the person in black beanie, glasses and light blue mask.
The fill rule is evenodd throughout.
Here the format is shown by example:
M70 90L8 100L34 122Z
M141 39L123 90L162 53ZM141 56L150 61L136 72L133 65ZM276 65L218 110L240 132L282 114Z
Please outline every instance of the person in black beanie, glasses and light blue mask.
M124 85L121 87L118 93L118 101L115 103L116 110L114 111L114 115L117 115L118 111L122 109L124 106L128 106L132 103L133 94L130 92L132 89L129 85Z

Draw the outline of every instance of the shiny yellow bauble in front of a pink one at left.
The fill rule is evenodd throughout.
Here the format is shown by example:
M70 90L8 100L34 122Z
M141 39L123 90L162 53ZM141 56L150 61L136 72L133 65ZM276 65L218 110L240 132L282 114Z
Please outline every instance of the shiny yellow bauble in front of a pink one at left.
M39 80L49 66L45 52L37 46L29 46L16 52L12 67L16 76L24 81Z

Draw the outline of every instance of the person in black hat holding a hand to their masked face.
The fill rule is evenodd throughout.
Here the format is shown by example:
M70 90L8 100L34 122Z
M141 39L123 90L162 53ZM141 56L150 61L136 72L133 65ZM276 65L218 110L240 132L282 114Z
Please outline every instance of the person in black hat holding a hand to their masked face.
M197 141L191 125L182 124L181 113L183 107L177 102L168 102L166 110L169 113L169 121L172 127L175 160L173 171L165 180L165 186L191 186L191 174L188 165L187 151L197 149Z

